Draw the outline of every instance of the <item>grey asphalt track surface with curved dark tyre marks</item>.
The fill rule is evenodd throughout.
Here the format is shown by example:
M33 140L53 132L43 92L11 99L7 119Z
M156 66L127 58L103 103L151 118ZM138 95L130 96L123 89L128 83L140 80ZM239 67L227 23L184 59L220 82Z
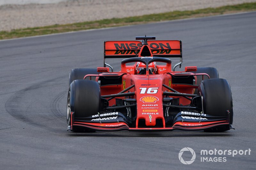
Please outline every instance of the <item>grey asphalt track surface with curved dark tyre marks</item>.
M254 169L256 12L0 41L1 169ZM231 85L235 130L67 131L68 74L103 65L103 41L182 40L184 66L216 67ZM119 60L112 62L115 67ZM184 147L195 161L183 165ZM201 150L248 150L201 162ZM248 153L248 152L247 152ZM184 152L184 160L192 155ZM223 157L223 155L208 155Z

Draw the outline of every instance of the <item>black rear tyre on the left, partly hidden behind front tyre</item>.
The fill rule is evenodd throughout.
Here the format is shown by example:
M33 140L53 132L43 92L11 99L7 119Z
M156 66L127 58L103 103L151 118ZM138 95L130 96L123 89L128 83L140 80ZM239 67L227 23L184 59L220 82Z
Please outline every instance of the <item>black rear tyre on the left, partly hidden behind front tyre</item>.
M84 79L84 76L87 74L99 74L99 72L97 72L97 69L72 69L69 73L69 85L74 80ZM92 77L92 80L95 80L95 77Z

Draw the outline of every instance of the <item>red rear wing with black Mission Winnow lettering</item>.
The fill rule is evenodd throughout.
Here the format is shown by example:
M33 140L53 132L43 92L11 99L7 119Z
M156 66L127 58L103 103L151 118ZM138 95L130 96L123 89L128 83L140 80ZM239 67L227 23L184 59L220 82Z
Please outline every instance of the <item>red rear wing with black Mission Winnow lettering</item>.
M137 37L136 37L137 38ZM110 66L105 62L106 58L132 58L137 57L142 47L140 41L104 41L104 67ZM178 40L167 41L147 41L154 57L180 57L180 62L175 64L175 67L182 63L182 42ZM111 67L111 66L110 66ZM112 68L112 67L111 67Z

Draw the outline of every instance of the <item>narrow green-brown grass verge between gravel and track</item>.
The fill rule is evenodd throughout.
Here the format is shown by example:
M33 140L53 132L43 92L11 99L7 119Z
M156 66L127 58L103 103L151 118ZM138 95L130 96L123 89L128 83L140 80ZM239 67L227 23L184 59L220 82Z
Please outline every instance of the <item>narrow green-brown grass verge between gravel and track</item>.
M52 34L52 33L63 33L63 32L69 32L69 31L95 29L95 28L145 24L145 23L157 22L157 21L204 17L204 16L211 16L211 15L235 13L235 12L241 12L241 11L254 11L254 10L256 10L256 3L244 3L244 4L237 4L237 5L227 5L227 6L222 6L218 8L198 9L193 11L172 11L172 12L165 12L165 13L158 13L158 14L150 14L150 15L142 15L142 16L126 17L126 18L102 19L97 21L87 21L87 22L65 24L65 25L56 24L52 26L15 29L12 31L0 31L0 40L35 36L35 35Z

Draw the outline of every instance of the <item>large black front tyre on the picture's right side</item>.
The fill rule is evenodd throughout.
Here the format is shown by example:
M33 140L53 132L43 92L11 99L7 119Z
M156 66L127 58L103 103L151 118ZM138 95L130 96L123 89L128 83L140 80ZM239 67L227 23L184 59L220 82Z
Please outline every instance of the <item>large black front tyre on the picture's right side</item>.
M226 79L213 78L201 81L198 95L203 96L204 113L212 116L227 116L230 112L230 124L233 123L233 100L230 85ZM229 126L206 129L206 132L222 132Z

